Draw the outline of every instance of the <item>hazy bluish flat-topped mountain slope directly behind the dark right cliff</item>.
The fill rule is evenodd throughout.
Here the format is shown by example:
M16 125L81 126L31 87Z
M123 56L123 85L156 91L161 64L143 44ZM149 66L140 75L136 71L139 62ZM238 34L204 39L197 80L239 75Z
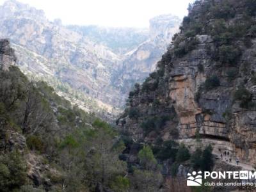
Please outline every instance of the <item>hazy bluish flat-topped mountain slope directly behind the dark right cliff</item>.
M142 83L156 69L157 61L179 31L181 20L173 15L160 15L150 19L149 38L136 49L125 54L122 66L115 77L115 84L123 93L129 92L134 83Z

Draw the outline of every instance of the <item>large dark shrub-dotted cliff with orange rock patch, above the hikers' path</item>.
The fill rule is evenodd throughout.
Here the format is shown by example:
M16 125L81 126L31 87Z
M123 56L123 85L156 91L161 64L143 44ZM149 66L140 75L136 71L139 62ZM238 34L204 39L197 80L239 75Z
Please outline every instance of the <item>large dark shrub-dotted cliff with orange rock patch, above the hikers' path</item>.
M119 129L135 141L177 140L191 150L199 135L216 154L228 150L253 166L256 10L251 6L196 1L156 72L130 93Z

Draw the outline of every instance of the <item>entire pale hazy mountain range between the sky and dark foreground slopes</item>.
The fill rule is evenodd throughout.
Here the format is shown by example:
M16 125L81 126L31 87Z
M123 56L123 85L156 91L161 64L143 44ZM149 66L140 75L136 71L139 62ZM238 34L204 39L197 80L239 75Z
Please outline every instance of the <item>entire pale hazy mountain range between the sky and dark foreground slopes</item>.
M150 31L63 26L15 0L0 6L0 18L0 36L10 38L27 76L44 79L73 104L105 116L119 113L134 79L143 81L154 70L179 26L170 15L152 19Z

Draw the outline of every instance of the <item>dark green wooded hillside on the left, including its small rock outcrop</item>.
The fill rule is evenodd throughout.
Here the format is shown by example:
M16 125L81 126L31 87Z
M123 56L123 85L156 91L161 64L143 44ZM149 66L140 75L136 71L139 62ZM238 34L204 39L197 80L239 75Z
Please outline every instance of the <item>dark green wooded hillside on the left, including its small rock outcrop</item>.
M110 125L29 81L8 40L0 39L0 58L1 192L110 191L127 180Z

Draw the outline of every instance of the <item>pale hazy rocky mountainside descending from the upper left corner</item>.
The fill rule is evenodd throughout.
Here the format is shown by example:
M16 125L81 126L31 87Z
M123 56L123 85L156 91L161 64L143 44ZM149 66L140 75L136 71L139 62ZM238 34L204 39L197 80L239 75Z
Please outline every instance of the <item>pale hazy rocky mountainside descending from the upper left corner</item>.
M71 97L87 95L82 102L89 106L82 105L88 109L93 108L90 100L99 100L102 108L120 106L121 96L111 85L111 74L120 59L108 48L86 40L60 22L50 22L42 10L17 1L6 1L0 17L0 35L12 40L24 72L44 77Z

